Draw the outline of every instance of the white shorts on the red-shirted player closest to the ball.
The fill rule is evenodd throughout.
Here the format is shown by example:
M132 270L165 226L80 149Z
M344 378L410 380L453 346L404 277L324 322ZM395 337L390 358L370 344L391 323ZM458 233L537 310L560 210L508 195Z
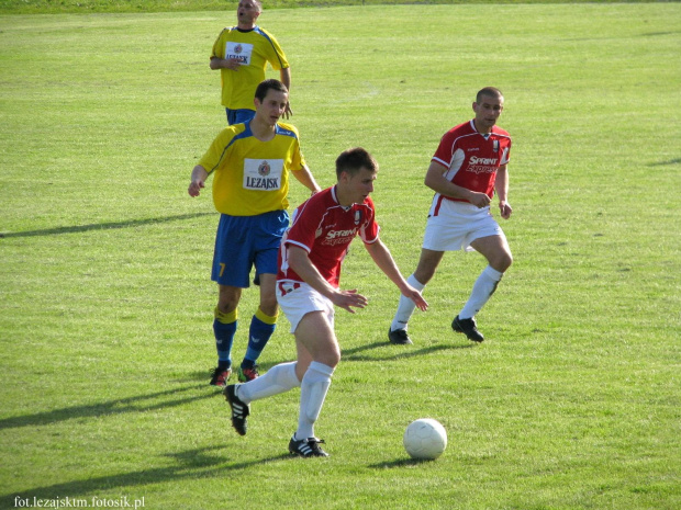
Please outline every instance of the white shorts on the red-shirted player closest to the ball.
M277 303L291 322L292 333L295 332L302 318L311 311L323 311L331 328L334 327L334 304L306 283L277 281Z

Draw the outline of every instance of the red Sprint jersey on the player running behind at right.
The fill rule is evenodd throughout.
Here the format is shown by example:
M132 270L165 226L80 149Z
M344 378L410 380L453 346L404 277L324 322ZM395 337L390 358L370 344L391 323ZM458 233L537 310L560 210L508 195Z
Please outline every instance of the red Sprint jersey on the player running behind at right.
M494 196L496 170L509 162L510 151L509 133L492 126L489 135L482 135L476 129L473 121L470 121L445 133L431 161L448 169L445 172L448 181L467 190L487 193L491 199ZM433 199L435 211L443 199L468 202L436 193Z

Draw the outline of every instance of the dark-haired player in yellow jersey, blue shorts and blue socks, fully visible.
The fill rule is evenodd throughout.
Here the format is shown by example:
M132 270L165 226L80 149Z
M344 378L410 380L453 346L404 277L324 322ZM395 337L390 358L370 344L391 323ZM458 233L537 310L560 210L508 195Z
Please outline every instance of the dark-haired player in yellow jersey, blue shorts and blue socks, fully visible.
M232 373L237 306L254 264L260 280L260 306L250 320L239 381L258 376L256 361L275 331L277 253L289 226L289 175L312 194L321 190L301 154L298 131L279 123L288 100L283 83L261 82L255 92L253 120L223 129L191 172L190 196L199 196L213 175L213 203L221 213L211 276L219 286L213 321L217 367L211 379L215 386L224 386Z

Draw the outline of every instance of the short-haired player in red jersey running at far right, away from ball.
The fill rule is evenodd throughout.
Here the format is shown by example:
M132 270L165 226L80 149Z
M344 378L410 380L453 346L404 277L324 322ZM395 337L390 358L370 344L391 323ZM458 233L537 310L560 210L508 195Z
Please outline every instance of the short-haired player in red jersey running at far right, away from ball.
M435 274L445 251L476 250L487 260L470 297L454 318L451 328L469 340L481 342L475 315L496 290L513 258L506 237L490 213L494 191L501 217L507 219L509 158L511 137L496 126L504 107L499 89L480 90L472 104L476 116L445 133L431 160L426 186L435 191L416 271L406 280L423 291ZM406 329L414 311L408 299L400 298L388 337L392 343L412 343Z

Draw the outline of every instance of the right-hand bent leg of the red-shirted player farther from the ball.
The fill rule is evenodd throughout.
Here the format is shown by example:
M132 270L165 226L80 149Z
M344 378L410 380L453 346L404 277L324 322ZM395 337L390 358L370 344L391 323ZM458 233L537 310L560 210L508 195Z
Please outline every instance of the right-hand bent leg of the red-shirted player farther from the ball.
M476 280L470 297L459 315L455 317L451 327L456 331L466 333L470 340L481 342L484 337L478 331L473 317L496 291L501 277L513 262L513 256L503 233L480 237L471 241L470 246L488 260L489 265Z

